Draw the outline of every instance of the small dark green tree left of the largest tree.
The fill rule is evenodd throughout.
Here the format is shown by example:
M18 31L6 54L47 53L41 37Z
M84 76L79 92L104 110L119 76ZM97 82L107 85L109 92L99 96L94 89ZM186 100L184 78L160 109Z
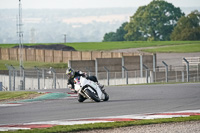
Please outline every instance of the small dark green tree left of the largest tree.
M125 41L124 35L127 33L127 31L124 30L124 27L128 24L128 22L123 23L116 32L109 32L104 35L103 42L109 42L109 41Z

